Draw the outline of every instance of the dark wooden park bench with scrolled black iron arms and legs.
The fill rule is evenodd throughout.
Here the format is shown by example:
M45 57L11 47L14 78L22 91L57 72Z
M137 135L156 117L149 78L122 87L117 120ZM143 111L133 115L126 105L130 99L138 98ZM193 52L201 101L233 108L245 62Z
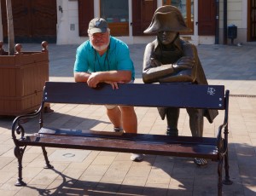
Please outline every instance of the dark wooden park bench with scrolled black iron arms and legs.
M47 127L44 124L46 103L218 109L224 111L224 123L219 125L216 137L68 130L61 127ZM19 116L12 124L15 157L18 159L19 170L16 185L26 186L22 180L22 157L27 146L42 147L47 168L52 168L52 165L49 164L45 147L61 147L212 159L218 162L218 195L221 195L222 183L231 184L228 159L228 109L229 90L225 90L223 85L119 84L119 89L113 90L109 84L100 84L93 89L84 83L46 82L42 104L38 111ZM35 130L34 134L26 134L22 120L38 116L38 130ZM223 162L224 181L222 181Z

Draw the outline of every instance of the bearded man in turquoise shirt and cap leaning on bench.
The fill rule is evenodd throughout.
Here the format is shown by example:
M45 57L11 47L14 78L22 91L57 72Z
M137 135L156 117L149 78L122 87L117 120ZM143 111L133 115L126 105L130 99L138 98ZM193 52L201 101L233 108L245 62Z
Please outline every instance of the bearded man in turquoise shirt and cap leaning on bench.
M134 81L134 66L128 46L110 36L108 23L102 18L90 20L89 40L77 49L74 64L76 82L87 83L96 88L100 83L110 84L119 89L119 83ZM125 130L126 133L137 133L137 115L134 107L106 106L108 118L114 131ZM143 156L131 154L131 160L141 161Z

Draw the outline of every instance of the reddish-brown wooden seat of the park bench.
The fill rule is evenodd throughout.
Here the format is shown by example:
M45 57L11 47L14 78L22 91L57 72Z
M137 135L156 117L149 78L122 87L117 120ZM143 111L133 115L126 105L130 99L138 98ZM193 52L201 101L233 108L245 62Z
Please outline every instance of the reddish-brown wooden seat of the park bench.
M116 138L38 134L19 141L24 146L64 147L122 153L145 153L177 157L218 159L215 145L166 143L164 141L127 141Z

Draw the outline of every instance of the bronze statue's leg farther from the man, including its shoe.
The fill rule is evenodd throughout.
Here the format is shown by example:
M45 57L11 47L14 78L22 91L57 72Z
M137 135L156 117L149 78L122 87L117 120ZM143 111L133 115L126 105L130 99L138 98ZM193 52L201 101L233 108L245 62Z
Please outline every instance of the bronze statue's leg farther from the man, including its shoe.
M192 136L202 137L204 129L204 116L202 109L187 108L189 113L189 127ZM195 158L195 164L202 166L208 164L207 159Z

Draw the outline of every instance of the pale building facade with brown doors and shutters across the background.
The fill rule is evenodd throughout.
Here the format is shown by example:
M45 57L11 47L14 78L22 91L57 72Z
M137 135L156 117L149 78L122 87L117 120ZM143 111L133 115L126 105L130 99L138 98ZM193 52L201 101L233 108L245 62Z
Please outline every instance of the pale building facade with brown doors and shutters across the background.
M256 0L13 0L15 43L47 40L79 44L88 39L94 17L108 20L111 34L125 43L148 43L154 36L143 31L154 10L172 4L181 10L192 32L183 37L195 44L230 43L230 26L236 26L235 43L256 41ZM1 0L0 40L7 40L5 0Z

